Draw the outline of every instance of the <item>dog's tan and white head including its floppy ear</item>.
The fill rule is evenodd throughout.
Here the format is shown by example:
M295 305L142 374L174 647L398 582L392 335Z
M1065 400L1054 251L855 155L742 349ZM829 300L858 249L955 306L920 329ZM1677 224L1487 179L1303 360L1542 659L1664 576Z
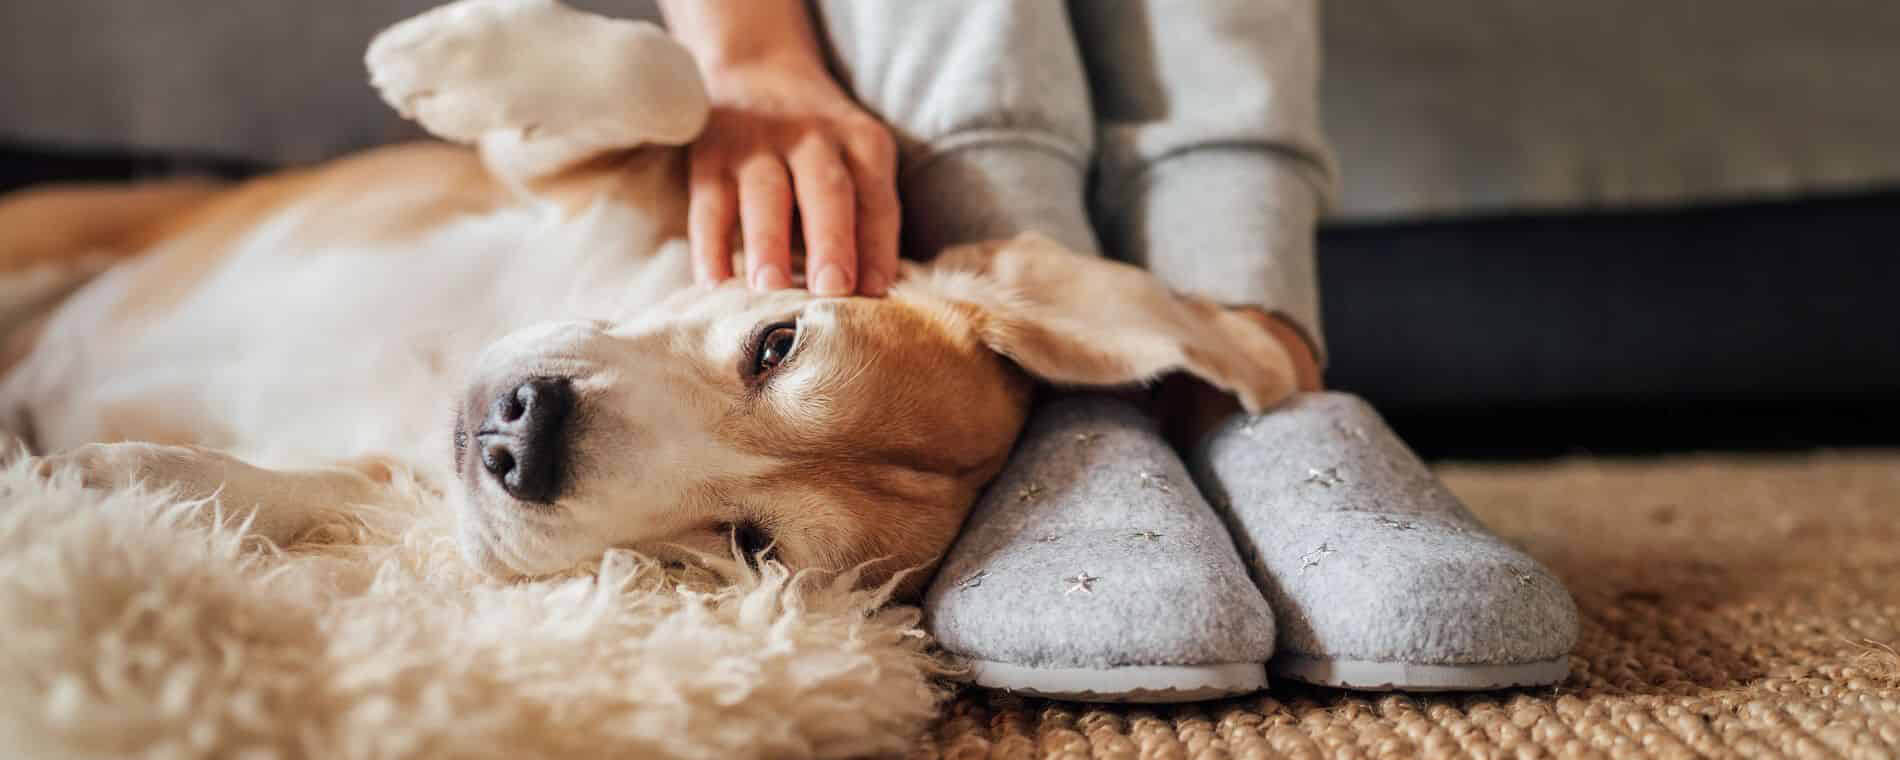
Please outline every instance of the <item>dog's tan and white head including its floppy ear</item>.
M695 287L483 353L456 426L462 547L498 576L737 542L889 578L948 549L1034 380L1184 370L1258 410L1288 367L1244 317L1041 238L906 264L887 298Z

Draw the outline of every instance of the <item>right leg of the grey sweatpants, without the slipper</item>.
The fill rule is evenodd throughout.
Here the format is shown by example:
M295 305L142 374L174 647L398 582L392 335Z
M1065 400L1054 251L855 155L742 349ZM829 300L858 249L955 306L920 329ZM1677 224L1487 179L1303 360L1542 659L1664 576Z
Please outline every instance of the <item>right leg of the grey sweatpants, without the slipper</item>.
M1264 306L1319 353L1313 230L1334 165L1313 0L1083 0L1098 120L1094 220L1112 256Z

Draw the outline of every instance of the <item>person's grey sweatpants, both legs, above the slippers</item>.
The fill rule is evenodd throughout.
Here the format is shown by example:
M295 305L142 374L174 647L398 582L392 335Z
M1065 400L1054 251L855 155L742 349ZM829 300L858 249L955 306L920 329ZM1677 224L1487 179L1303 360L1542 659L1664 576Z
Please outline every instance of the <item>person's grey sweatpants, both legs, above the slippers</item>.
M902 144L908 251L1036 230L1279 312L1317 346L1313 228L1336 171L1319 127L1315 4L815 10L846 86Z

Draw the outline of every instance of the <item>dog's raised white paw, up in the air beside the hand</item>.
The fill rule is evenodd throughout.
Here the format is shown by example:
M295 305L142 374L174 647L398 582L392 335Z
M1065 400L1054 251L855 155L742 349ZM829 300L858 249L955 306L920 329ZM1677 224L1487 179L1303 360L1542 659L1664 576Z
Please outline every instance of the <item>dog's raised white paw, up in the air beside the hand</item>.
M555 0L462 0L370 42L370 84L437 137L543 177L604 150L686 144L707 118L694 57L642 21Z

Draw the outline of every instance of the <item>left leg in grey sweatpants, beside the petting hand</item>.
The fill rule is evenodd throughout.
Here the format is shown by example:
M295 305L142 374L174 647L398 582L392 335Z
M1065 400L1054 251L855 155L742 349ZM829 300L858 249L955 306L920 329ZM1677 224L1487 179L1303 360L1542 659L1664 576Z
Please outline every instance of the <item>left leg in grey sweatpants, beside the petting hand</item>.
M1081 253L1094 116L1058 0L819 0L838 78L899 142L904 253L1041 232Z

